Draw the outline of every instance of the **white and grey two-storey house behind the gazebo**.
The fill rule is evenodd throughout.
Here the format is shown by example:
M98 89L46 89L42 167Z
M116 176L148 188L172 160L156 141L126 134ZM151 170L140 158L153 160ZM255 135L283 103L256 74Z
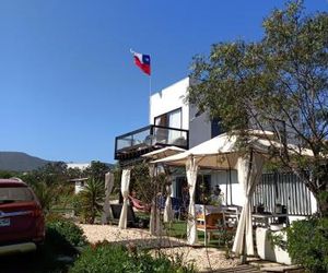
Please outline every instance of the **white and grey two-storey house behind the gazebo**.
M186 100L191 82L186 78L150 97L150 124L115 140L115 159L125 167L142 161L141 155L166 145L190 149L223 133L219 120L209 120L208 115L188 104ZM270 177L270 176L268 176ZM271 179L271 180L270 180ZM258 186L254 202L262 202L268 210L273 210L280 199L295 215L306 215L316 210L314 198L304 185L292 175L263 178ZM284 182L283 182L284 181ZM293 182L291 182L293 181ZM183 198L186 177L175 176L173 195ZM220 186L225 204L243 205L239 198L242 188L237 182L236 170L201 170L197 182L196 201L199 201L200 187L210 193ZM289 192L290 193L285 193ZM274 192L274 194L273 194ZM279 192L284 194L279 197ZM305 204L302 201L306 199ZM256 203L254 203L256 205Z

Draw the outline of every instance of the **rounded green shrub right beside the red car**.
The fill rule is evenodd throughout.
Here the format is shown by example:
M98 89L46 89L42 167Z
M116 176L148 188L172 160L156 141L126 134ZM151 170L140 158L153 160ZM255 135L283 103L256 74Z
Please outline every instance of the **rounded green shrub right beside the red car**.
M58 252L72 253L77 247L86 245L83 230L74 223L60 218L48 218L46 225L46 244L50 245Z

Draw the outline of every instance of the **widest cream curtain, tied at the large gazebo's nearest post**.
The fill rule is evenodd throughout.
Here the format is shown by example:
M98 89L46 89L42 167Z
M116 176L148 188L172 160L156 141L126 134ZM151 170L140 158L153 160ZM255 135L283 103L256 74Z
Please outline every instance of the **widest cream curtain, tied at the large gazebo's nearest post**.
M263 157L260 154L250 152L250 154L239 157L237 161L238 182L243 187L244 205L239 217L237 232L233 245L235 254L254 254L251 207L250 200L255 186L259 182L263 166ZM244 249L245 234L245 252Z

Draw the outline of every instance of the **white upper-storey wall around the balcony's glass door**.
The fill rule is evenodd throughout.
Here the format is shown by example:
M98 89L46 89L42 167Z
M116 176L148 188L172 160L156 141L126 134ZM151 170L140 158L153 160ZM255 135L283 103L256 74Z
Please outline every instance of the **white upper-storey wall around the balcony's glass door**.
M150 124L154 123L155 117L181 108L181 129L189 130L189 106L184 103L189 83L189 78L186 78L161 92L151 95Z

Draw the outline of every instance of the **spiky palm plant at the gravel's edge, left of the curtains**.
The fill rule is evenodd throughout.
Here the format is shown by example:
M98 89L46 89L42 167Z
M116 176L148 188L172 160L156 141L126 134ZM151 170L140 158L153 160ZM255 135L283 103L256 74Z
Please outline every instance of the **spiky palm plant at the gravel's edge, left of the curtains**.
M93 178L89 179L85 188L79 193L84 222L89 224L94 223L95 217L103 212L104 198L104 183Z

